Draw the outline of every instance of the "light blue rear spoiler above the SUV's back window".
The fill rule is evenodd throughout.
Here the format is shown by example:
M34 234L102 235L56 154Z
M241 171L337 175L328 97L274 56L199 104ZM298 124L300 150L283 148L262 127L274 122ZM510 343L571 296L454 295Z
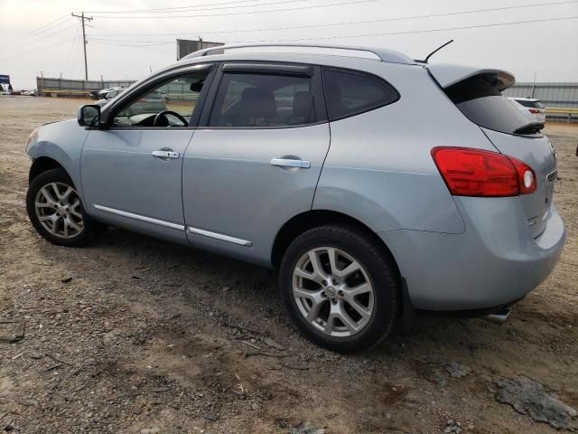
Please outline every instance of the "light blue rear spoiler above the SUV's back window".
M516 79L514 79L514 75L511 72L502 70L476 68L475 66L452 65L449 63L436 63L433 65L427 65L426 68L443 89L452 86L452 84L459 83L462 80L470 79L476 75L491 76L491 78L496 81L496 89L500 92L507 90L516 82Z

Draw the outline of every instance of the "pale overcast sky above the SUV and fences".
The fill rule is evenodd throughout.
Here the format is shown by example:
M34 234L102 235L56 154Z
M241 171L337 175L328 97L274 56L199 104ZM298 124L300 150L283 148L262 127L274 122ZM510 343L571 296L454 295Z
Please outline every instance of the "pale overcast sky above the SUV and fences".
M494 9L494 10L488 10ZM176 61L176 39L368 45L511 71L517 81L578 81L578 0L0 0L0 74L137 80ZM467 13L466 13L467 12ZM544 21L549 20L549 21ZM521 23L520 23L521 22Z

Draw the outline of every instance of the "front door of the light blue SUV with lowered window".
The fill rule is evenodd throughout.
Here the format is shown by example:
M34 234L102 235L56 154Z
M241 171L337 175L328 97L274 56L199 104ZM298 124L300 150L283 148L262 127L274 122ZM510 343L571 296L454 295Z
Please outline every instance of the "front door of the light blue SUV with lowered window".
M182 156L196 102L211 65L163 75L111 109L107 128L92 129L80 176L88 211L100 221L186 243ZM195 112L193 112L193 109ZM162 112L169 110L165 115ZM175 116L176 115L178 116ZM179 118L181 117L181 118ZM192 120L192 124L189 123Z

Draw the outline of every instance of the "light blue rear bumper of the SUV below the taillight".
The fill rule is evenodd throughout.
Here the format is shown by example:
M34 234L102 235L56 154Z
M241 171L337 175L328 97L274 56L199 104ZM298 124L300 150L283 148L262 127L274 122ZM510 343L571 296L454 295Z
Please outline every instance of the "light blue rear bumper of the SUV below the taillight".
M378 233L406 278L413 307L467 311L506 306L549 276L565 240L554 205L545 231L533 239L518 198L455 199L466 223L461 234Z

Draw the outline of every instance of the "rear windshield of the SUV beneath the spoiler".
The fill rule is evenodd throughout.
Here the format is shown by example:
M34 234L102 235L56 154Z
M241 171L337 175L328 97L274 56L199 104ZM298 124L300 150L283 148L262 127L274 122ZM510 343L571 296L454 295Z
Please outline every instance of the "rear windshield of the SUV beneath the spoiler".
M503 97L493 74L480 74L445 89L445 93L466 118L480 127L507 134L530 133L527 118ZM531 131L537 132L537 131Z

